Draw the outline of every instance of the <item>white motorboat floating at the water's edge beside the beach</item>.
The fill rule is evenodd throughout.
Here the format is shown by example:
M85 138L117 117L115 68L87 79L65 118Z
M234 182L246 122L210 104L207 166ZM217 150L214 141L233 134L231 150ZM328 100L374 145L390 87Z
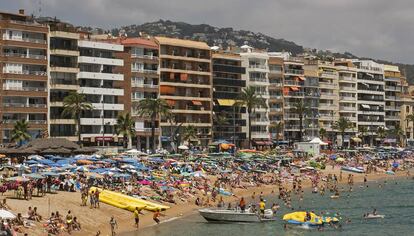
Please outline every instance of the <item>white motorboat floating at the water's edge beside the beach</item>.
M198 212L207 221L216 222L263 222L273 220L273 213L270 209L265 210L264 217L261 217L259 213L252 213L248 209L242 212L239 209L205 208L198 210Z

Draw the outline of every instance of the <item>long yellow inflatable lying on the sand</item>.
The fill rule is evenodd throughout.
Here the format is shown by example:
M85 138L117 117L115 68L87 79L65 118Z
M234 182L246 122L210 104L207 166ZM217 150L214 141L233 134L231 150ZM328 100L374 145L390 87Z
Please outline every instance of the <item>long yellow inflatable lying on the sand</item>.
M99 193L99 201L109 204L111 206L115 206L121 209L125 209L128 211L135 211L135 208L138 207L139 209L144 209L147 211L156 211L156 210L161 210L164 211L168 208L170 208L169 206L164 206L161 204L157 204L157 203L153 203L153 202L149 202L149 201L145 201L139 198L134 198L122 193L117 193L117 192L113 192L113 191L109 191L109 190L103 190L100 188L96 188L96 187L91 187L89 190L89 193L91 193L92 191L95 192L96 190L98 190Z

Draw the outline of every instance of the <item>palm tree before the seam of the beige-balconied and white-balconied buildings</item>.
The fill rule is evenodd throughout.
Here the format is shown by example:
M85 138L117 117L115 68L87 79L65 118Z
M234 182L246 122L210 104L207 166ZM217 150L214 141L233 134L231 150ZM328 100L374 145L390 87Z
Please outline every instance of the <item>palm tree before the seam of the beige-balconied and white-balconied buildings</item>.
M86 101L86 96L84 94L71 92L63 99L63 108L62 116L71 116L72 119L75 120L77 125L78 144L82 145L80 118L83 111L93 109L92 104Z

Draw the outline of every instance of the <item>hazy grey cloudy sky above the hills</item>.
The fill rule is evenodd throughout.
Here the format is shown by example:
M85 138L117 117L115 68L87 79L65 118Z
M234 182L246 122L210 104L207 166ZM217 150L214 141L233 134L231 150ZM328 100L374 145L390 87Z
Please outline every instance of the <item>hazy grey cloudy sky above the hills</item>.
M105 29L159 19L205 23L414 64L412 0L0 0L2 11L20 8Z

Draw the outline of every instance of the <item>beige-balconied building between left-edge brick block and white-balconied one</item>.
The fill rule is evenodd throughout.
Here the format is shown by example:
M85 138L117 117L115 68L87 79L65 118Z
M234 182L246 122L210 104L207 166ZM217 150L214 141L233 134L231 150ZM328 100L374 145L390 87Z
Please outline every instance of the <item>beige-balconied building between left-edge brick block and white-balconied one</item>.
M77 92L79 84L78 40L79 33L70 24L45 21L50 27L50 80L49 80L49 129L51 137L77 140L76 123L70 116L63 116L63 99L70 92Z

